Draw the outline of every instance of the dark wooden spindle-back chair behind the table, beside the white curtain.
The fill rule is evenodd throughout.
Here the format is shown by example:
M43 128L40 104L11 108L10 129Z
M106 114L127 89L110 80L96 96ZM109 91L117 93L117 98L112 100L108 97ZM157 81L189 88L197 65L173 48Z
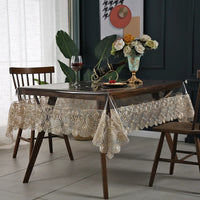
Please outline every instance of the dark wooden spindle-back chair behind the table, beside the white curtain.
M33 68L10 67L10 74L12 75L15 89L22 86L30 86L36 84L47 84L47 83L51 84L53 73L54 73L54 67L33 67ZM30 99L31 97L27 95L27 96L18 96L18 98ZM48 138L49 140L50 153L53 153L52 137L60 137L65 140L69 157L71 160L73 160L73 154L71 151L68 136L67 135L59 136L59 135L54 135L52 133L48 133L48 136L45 138ZM17 156L19 143L21 139L30 143L30 151L29 151L29 157L30 157L34 146L35 130L31 130L30 138L25 138L22 137L22 129L19 128L15 142L13 158L16 158Z

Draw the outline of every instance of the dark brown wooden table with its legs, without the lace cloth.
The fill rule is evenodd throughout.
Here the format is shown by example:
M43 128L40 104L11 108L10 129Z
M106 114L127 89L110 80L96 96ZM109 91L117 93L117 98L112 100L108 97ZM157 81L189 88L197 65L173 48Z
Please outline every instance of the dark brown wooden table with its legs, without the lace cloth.
M121 101L126 98L149 94L152 99L159 100L167 98L167 96L174 90L182 87L181 81L144 81L143 85L126 85L124 87L104 87L101 84L93 85L91 82L80 82L79 87L74 87L70 83L58 83L49 85L20 87L17 89L17 94L32 95L36 98L38 104L40 103L39 97L48 97L48 104L54 106L58 98L80 99L80 100L94 100L97 102L99 110L105 110L106 115L111 115L111 107L113 102ZM160 96L162 92L162 96ZM112 102L111 102L112 101ZM142 101L142 100L141 100ZM34 149L29 160L26 173L24 176L24 183L29 182L35 161L37 159L40 146L42 144L45 132L38 133ZM172 146L172 139L170 135L167 138L169 147ZM108 195L108 179L106 167L107 152L100 152L101 169L102 169L102 182L103 182L103 195L105 199L109 198Z

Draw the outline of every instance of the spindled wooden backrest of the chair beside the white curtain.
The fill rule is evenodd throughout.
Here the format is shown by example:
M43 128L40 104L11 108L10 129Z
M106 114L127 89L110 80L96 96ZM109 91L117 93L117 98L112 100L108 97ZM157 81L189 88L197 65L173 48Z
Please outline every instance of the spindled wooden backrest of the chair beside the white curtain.
M54 67L10 67L15 89L23 86L52 83ZM23 96L26 99L26 96ZM22 98L22 97L19 97ZM30 98L30 96L28 97Z

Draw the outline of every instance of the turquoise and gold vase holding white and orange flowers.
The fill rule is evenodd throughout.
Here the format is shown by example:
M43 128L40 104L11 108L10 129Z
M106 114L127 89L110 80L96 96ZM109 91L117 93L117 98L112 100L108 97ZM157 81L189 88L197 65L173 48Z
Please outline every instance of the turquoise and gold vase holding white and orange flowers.
M111 55L119 56L123 54L128 59L129 70L132 77L127 80L128 83L142 83L142 80L136 77L139 69L140 58L146 50L155 50L158 48L158 42L152 40L149 35L143 35L139 39L135 39L131 34L126 34L124 38L116 39L112 44Z

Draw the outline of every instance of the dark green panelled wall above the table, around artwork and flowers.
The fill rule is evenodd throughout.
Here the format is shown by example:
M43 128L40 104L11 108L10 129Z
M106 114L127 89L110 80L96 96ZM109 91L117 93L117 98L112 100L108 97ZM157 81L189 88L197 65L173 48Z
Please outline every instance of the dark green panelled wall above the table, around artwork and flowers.
M81 53L85 68L97 60L100 39L99 1L81 0ZM200 68L200 0L144 0L144 33L159 41L159 49L141 59L142 79L194 79ZM121 77L128 78L125 68Z

